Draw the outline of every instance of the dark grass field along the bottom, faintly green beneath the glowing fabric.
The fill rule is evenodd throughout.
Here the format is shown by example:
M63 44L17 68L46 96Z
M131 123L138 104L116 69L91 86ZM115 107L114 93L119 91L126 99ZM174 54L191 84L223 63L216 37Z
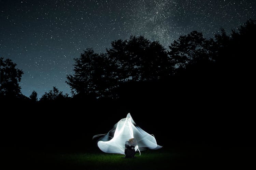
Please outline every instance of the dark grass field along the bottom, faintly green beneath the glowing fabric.
M251 148L183 148L142 151L136 158L122 154L93 152L10 152L5 169L247 169L255 160ZM3 160L3 159L2 159ZM254 165L253 165L254 166Z

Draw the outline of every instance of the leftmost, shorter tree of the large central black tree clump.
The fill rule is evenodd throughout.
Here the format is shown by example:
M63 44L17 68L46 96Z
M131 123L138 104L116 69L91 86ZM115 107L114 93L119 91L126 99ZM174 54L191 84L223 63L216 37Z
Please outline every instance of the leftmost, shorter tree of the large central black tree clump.
M67 84L80 95L93 98L115 98L113 89L117 86L115 64L105 54L95 53L88 48L80 58L74 58L74 75L67 75Z

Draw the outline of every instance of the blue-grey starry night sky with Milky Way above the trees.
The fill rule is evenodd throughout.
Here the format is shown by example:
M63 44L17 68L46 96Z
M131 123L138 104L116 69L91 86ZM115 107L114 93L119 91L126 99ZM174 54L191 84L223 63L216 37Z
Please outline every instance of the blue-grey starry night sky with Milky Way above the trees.
M0 0L0 57L24 74L19 85L40 98L56 86L70 94L66 74L86 48L143 35L168 46L191 31L213 37L256 19L255 0Z

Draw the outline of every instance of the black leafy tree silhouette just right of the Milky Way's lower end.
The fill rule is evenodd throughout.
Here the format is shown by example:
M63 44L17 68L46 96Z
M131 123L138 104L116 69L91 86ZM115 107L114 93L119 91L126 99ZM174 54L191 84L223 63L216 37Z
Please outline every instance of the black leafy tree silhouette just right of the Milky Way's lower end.
M193 31L174 40L169 48L168 54L175 66L176 76L197 81L212 79L217 48L213 39L207 40L202 33Z

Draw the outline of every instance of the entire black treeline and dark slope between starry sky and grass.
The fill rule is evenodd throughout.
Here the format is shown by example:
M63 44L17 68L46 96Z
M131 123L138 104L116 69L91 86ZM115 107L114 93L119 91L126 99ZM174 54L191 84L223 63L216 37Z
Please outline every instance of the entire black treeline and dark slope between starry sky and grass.
M107 133L130 112L159 145L252 145L255 40L255 20L230 36L221 29L205 39L193 31L169 50L143 36L115 40L105 53L88 48L74 58L66 81L72 96L54 86L40 99L36 91L22 95L22 70L1 58L6 143L24 138L25 145L28 138L30 146L95 146L93 135Z

